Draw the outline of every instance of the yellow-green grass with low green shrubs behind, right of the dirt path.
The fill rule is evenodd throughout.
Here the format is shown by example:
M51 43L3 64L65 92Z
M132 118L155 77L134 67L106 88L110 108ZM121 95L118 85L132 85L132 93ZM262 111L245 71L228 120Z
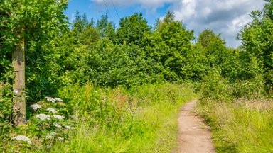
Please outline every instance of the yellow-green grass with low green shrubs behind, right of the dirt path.
M211 127L217 152L273 152L273 101L262 89L260 79L230 84L217 73L204 78L197 111Z

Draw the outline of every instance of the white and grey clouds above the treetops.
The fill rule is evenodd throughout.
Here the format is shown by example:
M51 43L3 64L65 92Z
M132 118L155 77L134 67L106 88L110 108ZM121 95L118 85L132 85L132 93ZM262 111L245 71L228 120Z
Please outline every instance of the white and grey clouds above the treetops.
M90 0L104 4L103 0ZM205 29L221 33L230 47L237 47L237 33L251 21L249 14L262 9L264 1L260 0L105 0L115 6L132 6L139 4L148 11L155 11L165 4L170 5L176 19L183 21L187 28L195 30L196 35ZM158 18L156 16L155 18Z

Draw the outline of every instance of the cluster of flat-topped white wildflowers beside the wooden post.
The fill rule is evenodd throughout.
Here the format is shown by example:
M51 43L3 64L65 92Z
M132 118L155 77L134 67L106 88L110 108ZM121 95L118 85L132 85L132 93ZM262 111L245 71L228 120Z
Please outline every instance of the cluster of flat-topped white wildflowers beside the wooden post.
M67 139L72 123L69 118L65 119L68 108L61 98L45 97L45 101L34 103L30 108L33 113L31 114L32 118L28 120L28 125L30 125L29 128L36 127L31 128L33 132L31 130L30 132L32 135L33 133L40 133L39 135L33 135L39 139L39 141L33 142L34 144L44 142L50 147L56 140ZM41 133L43 134L41 135ZM13 140L21 140L32 144L30 138L24 135L12 137Z

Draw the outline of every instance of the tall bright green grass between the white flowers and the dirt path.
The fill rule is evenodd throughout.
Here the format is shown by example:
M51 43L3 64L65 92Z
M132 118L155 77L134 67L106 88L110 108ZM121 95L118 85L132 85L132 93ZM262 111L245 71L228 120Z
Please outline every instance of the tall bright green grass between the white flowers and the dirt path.
M129 91L70 86L60 91L79 120L68 144L51 152L171 152L178 112L195 98L188 85L153 84Z

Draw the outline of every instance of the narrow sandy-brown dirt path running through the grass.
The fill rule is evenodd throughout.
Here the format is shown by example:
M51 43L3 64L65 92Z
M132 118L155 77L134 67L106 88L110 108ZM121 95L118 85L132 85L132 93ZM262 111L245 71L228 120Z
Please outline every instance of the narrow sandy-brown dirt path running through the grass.
M210 153L215 152L210 131L203 120L193 113L196 101L183 106L178 118L178 149L176 152L183 153Z

